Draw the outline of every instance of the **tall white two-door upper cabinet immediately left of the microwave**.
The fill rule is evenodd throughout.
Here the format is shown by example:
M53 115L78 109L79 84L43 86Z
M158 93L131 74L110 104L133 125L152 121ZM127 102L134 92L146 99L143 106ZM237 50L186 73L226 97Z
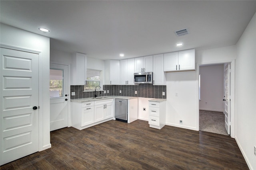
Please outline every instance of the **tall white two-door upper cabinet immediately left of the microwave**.
M120 84L134 85L134 58L120 60Z

